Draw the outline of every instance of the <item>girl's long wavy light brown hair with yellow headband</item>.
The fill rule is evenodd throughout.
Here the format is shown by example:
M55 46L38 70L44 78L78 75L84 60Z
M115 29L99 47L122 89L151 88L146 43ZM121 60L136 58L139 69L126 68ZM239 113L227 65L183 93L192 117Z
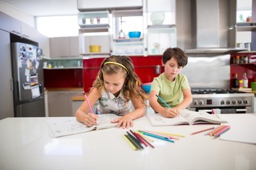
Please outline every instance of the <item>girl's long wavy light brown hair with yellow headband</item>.
M142 82L140 81L137 74L134 72L134 64L130 57L112 55L105 58L100 66L100 71L98 72L97 77L93 83L93 87L100 90L105 89L103 72L110 75L123 72L125 79L124 86L122 87L124 91L124 97L128 99L127 101L129 101L132 98L137 98L138 96L140 96L142 103L145 104L146 98L144 97L144 91L142 91L142 89L140 88Z

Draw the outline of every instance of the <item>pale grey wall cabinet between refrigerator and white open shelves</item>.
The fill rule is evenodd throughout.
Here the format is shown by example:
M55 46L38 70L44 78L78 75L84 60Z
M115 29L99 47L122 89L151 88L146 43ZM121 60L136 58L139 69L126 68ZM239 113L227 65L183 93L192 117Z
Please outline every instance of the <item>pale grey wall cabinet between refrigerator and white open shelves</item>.
M78 57L79 39L74 37L50 38L50 57Z

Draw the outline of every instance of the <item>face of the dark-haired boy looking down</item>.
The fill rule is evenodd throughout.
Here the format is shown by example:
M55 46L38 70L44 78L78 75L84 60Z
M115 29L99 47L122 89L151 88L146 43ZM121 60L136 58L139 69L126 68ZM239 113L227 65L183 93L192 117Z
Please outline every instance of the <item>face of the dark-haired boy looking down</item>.
M178 75L183 68L178 66L178 62L174 57L168 60L166 64L162 64L164 65L164 75L169 81L174 81L176 75Z

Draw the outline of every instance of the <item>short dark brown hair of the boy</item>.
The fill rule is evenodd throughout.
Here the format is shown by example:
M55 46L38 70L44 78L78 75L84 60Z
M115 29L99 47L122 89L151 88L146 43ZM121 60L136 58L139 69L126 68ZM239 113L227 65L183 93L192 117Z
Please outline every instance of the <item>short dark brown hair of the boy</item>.
M178 67L184 67L188 63L188 56L179 47L174 47L174 48L169 47L169 48L167 48L164 51L164 54L163 54L163 57L162 57L163 63L166 64L166 62L168 60L170 60L172 57L174 57L177 60Z

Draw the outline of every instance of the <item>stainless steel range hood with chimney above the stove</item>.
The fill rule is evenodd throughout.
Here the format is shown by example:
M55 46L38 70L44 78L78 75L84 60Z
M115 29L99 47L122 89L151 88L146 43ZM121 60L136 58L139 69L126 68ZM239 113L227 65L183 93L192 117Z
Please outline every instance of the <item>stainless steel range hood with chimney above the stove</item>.
M230 54L245 48L229 47L230 1L191 1L191 49L188 54Z

